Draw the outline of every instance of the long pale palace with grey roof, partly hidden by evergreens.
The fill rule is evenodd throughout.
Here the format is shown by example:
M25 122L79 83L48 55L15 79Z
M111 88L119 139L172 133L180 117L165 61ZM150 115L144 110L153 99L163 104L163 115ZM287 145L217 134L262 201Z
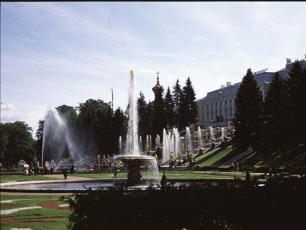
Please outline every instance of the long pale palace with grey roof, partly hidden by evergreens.
M306 55L299 62L303 68L306 68ZM266 90L269 88L275 73L278 71L281 77L286 78L293 63L291 59L286 59L286 66L283 69L268 68L253 73L264 99ZM226 121L232 120L235 114L235 98L240 84L241 82L234 84L230 81L226 82L226 85L221 85L221 88L209 92L204 98L196 100L198 105L198 122L204 124L209 124L211 121L214 123L220 122L220 126L225 126Z

